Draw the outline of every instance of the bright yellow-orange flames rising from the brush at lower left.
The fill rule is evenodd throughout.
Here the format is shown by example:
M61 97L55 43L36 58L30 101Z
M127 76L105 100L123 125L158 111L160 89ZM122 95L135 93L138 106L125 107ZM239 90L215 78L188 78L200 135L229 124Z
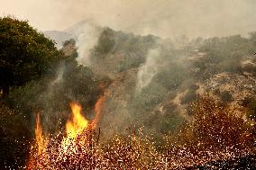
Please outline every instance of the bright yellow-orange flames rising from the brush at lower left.
M66 165L67 157L84 155L89 145L88 133L96 129L102 111L105 96L101 95L97 100L94 110L95 118L88 121L82 113L82 107L78 103L70 103L71 118L66 123L66 133L60 136L45 139L42 136L40 116L36 116L35 144L31 149L31 156L27 165L28 169L52 169L55 164ZM62 134L65 134L62 137ZM62 139L59 139L62 138ZM82 153L82 154L81 154ZM54 168L53 168L54 169Z

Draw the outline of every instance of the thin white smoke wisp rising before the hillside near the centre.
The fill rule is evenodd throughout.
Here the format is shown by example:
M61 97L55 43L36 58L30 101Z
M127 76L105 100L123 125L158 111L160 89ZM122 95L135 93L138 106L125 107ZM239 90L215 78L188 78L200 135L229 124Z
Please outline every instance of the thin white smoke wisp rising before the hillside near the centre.
M158 72L158 63L160 63L160 49L150 49L146 57L146 62L139 68L137 76L137 92L151 83L153 76Z

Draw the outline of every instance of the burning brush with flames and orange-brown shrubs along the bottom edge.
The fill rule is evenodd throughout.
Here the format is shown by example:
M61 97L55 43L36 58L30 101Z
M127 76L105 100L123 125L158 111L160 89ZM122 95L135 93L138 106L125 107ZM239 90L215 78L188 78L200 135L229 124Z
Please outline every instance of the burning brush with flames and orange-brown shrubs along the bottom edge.
M215 166L211 168L215 168L224 161L239 162L255 153L251 124L236 115L235 109L212 99L200 98L192 104L194 120L178 134L166 136L166 142L160 146L145 136L142 129L128 136L116 134L99 139L96 121L80 117L79 105L71 107L73 115L66 124L66 133L43 138L37 119L37 138L28 169L180 169L204 167L213 162ZM250 164L246 167L251 167Z

